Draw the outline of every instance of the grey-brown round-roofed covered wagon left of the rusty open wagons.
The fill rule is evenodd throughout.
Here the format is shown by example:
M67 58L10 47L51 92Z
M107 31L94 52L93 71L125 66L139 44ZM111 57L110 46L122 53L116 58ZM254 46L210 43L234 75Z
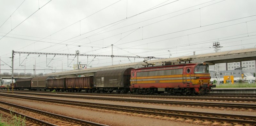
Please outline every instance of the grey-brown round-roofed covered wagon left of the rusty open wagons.
M48 89L47 80L55 79L54 76L41 76L41 77L34 77L31 79L31 89L32 90L46 90Z

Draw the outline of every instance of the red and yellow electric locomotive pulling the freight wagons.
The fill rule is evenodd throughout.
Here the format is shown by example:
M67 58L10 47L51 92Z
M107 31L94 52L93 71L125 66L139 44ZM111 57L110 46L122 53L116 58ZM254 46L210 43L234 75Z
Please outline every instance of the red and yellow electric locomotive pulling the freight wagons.
M210 83L209 65L206 62L170 64L132 69L131 92L204 94L216 87Z

